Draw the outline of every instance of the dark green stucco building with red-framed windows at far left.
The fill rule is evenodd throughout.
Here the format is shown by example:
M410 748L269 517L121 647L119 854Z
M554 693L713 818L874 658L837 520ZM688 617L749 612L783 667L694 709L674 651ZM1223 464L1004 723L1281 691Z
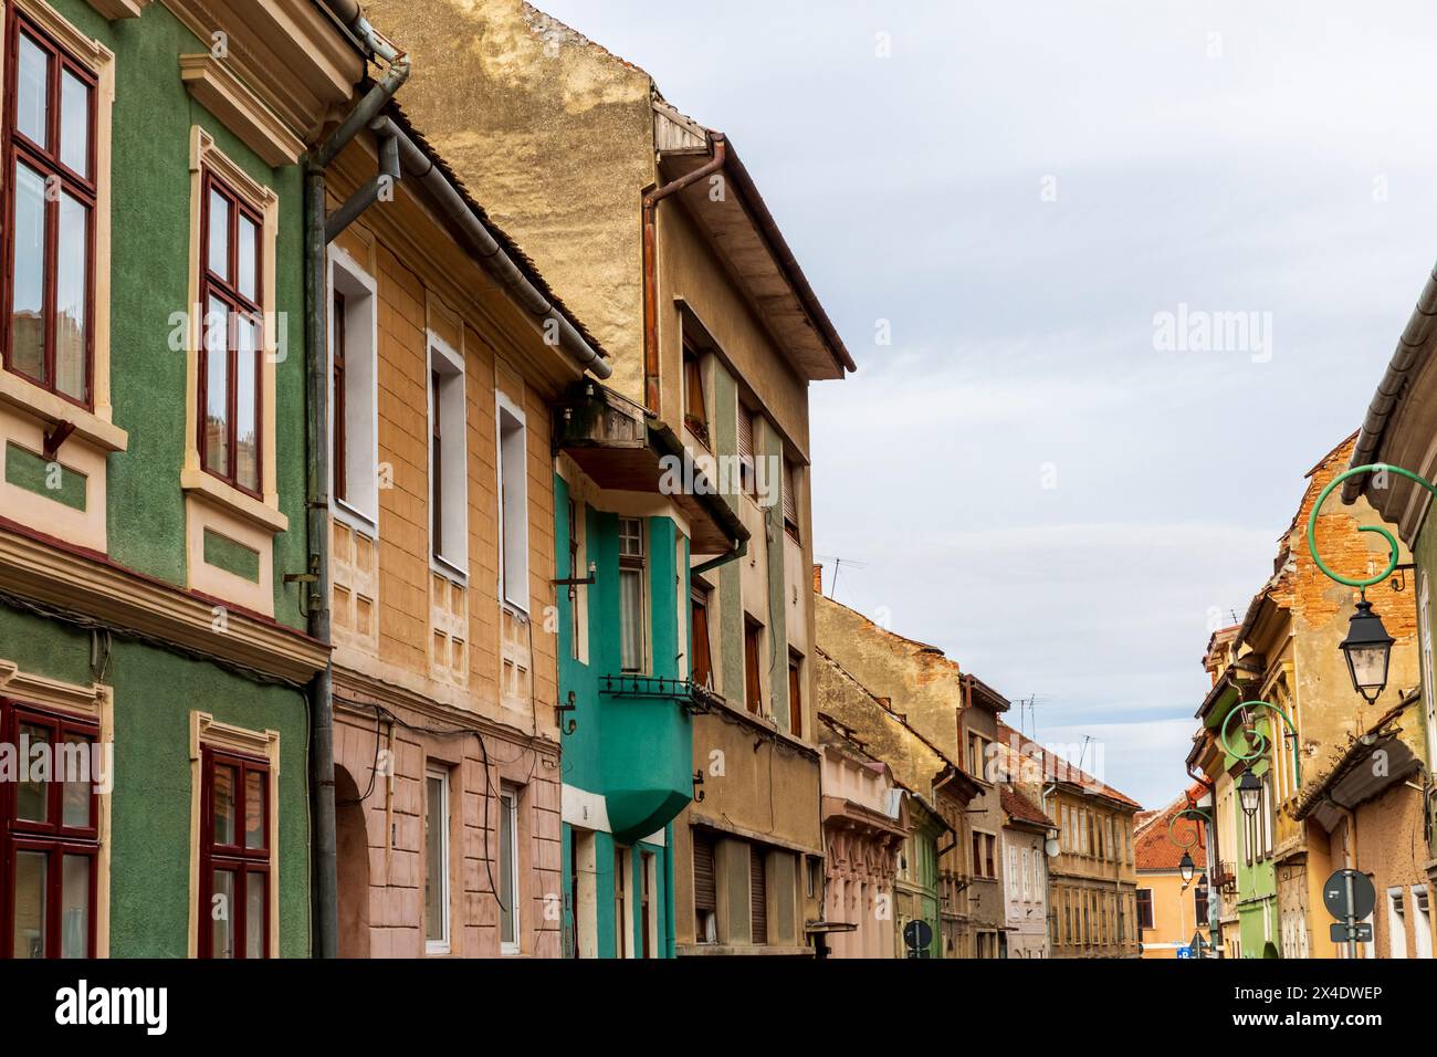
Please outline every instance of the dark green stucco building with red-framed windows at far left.
M228 4L4 10L0 741L52 767L0 955L306 956L299 161L358 59Z

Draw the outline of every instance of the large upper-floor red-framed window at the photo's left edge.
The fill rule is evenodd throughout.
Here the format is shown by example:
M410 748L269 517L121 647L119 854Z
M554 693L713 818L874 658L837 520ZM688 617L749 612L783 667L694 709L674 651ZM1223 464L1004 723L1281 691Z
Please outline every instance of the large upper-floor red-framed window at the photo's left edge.
M4 365L92 407L96 79L14 4L4 35Z

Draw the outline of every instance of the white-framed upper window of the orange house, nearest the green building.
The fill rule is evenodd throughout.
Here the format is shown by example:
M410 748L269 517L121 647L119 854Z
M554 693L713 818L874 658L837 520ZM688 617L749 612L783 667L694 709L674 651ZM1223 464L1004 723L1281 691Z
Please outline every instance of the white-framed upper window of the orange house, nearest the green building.
M335 498L341 469L329 467L329 509L341 521L379 532L379 286L359 263L338 246L329 249L329 436L335 433L335 293L345 298L345 454L364 452L369 472L349 470L345 499ZM356 367L359 368L356 371ZM358 398L358 408L356 408ZM362 429L356 429L362 427ZM333 450L333 443L331 443Z

